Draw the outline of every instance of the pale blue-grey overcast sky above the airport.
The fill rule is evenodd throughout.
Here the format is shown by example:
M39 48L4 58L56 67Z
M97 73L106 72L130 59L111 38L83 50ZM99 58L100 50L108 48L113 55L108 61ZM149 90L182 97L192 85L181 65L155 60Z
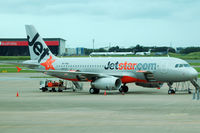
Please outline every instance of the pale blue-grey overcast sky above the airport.
M200 0L0 0L0 38L33 24L68 47L200 46Z

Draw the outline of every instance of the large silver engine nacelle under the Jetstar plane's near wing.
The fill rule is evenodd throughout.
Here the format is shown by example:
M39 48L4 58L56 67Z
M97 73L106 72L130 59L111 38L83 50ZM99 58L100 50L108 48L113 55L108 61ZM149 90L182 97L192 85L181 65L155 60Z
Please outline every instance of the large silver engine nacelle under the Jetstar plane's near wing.
M116 77L99 78L91 82L91 86L100 90L118 90L122 85L120 79Z

